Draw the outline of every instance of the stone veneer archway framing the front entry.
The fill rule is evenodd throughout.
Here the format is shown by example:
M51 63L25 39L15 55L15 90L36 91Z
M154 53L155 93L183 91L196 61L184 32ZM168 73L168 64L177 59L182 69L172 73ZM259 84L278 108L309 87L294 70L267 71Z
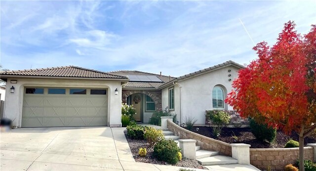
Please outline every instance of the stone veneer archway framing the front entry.
M156 106L156 111L162 110L161 107L161 90L129 90L129 89L122 89L122 102L126 103L126 99L129 95L135 94L135 93L143 93L148 96L150 96Z

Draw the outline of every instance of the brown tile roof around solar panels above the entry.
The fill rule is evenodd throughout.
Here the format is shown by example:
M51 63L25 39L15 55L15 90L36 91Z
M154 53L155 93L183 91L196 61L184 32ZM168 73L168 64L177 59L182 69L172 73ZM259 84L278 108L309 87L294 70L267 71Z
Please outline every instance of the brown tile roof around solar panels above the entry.
M163 85L164 83L167 83L171 80L176 79L175 77L169 77L169 76L164 76L164 75L159 75L159 74L153 74L153 73L146 73L146 72L141 72L141 71L126 71L126 70L121 70L121 71L111 71L108 72L111 74L116 74L116 75L121 75L121 76L128 76L128 75L141 75L141 76L157 76L163 83L154 83L154 82L131 82L129 81L125 87L152 87L152 88L157 88L160 85Z

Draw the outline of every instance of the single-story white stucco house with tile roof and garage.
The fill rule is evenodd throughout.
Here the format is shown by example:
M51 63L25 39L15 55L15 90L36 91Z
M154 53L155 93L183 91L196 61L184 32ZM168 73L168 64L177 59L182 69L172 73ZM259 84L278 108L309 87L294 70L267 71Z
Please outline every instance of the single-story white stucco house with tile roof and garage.
M227 61L177 78L75 66L4 71L4 116L19 128L119 127L123 102L134 105L139 122L168 107L180 123L191 116L204 125L206 110L233 110L224 99L241 68Z

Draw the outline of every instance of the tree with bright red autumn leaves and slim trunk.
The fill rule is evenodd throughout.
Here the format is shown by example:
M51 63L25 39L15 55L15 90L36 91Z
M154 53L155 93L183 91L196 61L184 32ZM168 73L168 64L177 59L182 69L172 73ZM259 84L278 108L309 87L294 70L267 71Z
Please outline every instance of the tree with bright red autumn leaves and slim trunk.
M294 22L284 24L276 44L253 47L258 59L239 70L226 103L241 117L252 117L285 133L296 131L300 171L304 171L304 138L316 129L316 25L301 36Z

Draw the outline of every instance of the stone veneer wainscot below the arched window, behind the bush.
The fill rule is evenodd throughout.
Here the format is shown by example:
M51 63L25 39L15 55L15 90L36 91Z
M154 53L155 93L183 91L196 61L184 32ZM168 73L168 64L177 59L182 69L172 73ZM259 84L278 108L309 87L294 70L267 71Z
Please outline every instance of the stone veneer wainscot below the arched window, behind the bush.
M207 111L206 111L207 112ZM246 128L249 127L248 119L243 119L239 116L239 114L235 110L227 110L228 114L231 117L230 123L226 127L230 128ZM205 125L212 126L211 121L205 118Z

